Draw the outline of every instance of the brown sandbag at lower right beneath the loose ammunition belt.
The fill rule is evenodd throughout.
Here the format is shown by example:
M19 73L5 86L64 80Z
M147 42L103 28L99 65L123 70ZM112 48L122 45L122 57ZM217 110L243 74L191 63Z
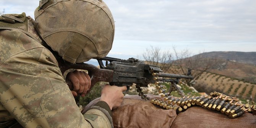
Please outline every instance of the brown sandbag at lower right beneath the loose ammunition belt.
M194 106L179 113L171 128L256 128L256 116L245 113L231 119L218 111Z

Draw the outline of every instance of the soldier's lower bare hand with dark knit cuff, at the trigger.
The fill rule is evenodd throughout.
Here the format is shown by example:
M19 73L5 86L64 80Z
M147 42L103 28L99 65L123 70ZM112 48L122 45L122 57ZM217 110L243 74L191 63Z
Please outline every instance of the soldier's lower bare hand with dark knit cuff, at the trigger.
M115 109L123 102L123 91L126 89L126 86L118 87L106 84L101 91L100 100L107 102L111 110Z

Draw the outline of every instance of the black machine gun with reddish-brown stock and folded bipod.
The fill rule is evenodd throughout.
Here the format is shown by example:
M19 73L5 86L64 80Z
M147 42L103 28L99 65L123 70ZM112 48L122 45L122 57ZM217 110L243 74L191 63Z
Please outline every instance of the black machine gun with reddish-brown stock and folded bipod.
M94 86L99 81L105 81L109 82L110 85L127 86L129 89L129 86L136 84L137 92L144 100L149 100L149 97L143 94L141 87L148 87L148 84L154 83L158 85L158 88L162 88L164 86L160 85L161 83L169 82L171 86L165 96L169 95L173 89L176 89L181 96L184 96L176 84L179 83L181 78L194 79L191 76L190 69L188 70L188 76L163 73L159 66L146 64L136 58L122 60L104 57L97 60L100 68L87 63L66 64L64 61L58 61L58 63L62 74L68 69L87 70L88 75L91 77L91 86ZM105 65L103 61L106 62ZM68 81L67 83L71 84Z

